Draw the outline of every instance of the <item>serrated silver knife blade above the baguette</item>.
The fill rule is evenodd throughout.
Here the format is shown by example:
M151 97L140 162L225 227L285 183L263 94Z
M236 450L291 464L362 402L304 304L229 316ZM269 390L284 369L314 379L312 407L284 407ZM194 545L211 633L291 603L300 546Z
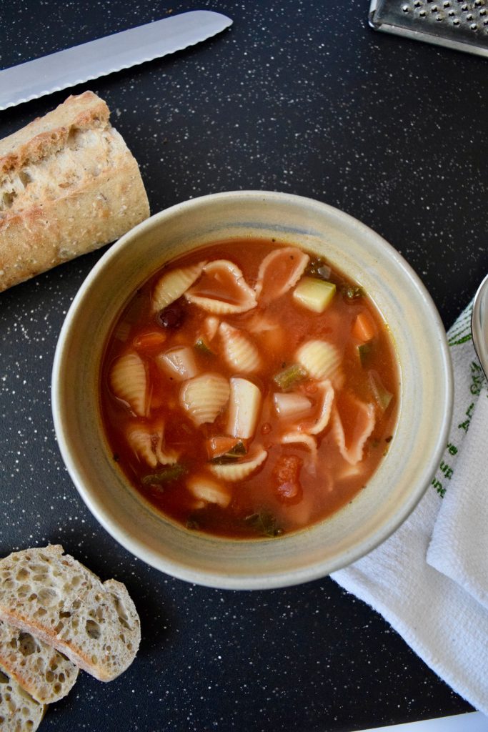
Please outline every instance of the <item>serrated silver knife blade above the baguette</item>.
M0 110L182 51L232 23L219 12L190 10L12 66L0 71Z

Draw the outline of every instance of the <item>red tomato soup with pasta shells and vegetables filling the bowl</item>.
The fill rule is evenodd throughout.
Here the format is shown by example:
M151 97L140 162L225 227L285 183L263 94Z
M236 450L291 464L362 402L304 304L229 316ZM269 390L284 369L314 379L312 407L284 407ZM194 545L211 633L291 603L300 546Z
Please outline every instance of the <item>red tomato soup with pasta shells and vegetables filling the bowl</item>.
M327 261L274 240L174 259L106 344L113 458L193 531L277 537L367 486L397 418L399 369L372 299Z

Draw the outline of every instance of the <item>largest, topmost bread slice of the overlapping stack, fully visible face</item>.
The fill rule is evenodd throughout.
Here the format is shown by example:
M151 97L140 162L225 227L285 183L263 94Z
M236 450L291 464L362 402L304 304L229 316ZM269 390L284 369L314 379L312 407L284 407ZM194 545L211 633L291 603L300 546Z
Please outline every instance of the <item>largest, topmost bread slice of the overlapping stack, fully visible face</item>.
M126 587L102 583L61 545L0 561L0 619L40 638L100 681L134 660L140 621Z

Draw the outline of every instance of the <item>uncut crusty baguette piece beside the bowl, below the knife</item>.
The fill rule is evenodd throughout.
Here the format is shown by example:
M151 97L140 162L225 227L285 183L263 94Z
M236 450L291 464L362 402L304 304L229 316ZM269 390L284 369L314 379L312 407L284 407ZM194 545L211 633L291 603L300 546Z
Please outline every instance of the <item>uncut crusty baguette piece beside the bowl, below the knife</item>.
M149 216L138 163L85 91L0 141L0 291Z

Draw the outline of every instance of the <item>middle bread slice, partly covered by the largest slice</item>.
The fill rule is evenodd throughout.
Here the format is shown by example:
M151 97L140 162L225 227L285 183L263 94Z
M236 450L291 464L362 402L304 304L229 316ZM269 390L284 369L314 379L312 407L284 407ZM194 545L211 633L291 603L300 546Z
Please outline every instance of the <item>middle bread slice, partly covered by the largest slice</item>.
M0 666L31 697L50 704L70 692L78 678L78 666L56 649L0 621ZM1 729L1 727L0 727Z

